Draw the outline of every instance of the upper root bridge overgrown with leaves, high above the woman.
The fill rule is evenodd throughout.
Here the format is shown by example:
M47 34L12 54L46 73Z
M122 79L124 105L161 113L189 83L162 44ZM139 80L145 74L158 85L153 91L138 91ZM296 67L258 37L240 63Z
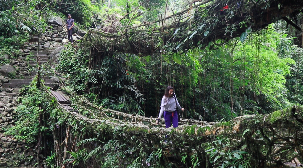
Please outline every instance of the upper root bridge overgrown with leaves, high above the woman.
M226 4L229 8L220 15ZM303 1L298 0L193 1L184 11L151 23L126 25L115 33L90 29L82 45L94 50L91 54L97 57L104 52L149 56L186 52L197 47L216 49L231 38L240 37L247 27L258 31L280 19L294 25L291 18L302 9Z

